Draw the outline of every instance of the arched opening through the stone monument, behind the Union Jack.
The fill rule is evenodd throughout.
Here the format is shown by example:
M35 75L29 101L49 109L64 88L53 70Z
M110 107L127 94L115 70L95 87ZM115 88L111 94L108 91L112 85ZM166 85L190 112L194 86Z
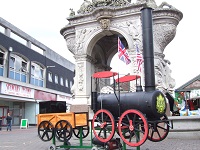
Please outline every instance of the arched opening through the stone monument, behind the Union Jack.
M95 59L95 66L97 67L127 74L129 66L118 57L118 37L128 51L129 47L126 39L121 34L115 33L103 36L96 42L92 50L92 57Z

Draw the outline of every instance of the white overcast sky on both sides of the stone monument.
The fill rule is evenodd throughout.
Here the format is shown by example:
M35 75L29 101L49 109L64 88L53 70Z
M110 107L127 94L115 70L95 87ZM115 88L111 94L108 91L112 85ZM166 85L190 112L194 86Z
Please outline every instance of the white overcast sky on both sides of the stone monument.
M67 25L70 8L75 12L84 0L0 0L1 17L33 38L75 62L60 29ZM135 2L136 0L132 0ZM160 5L164 0L155 0ZM171 62L176 87L200 74L199 4L197 0L165 0L183 13L174 40L166 47L165 58ZM193 3L193 4L192 4ZM119 63L122 63L119 61ZM124 67L126 67L124 65Z

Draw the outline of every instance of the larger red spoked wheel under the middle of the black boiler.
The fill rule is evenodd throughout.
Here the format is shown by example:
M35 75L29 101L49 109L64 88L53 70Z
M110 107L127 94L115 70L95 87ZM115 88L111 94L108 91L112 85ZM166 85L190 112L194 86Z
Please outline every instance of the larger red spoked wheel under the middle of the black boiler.
M121 115L118 130L122 140L132 147L142 145L149 131L145 116L134 109L127 110Z

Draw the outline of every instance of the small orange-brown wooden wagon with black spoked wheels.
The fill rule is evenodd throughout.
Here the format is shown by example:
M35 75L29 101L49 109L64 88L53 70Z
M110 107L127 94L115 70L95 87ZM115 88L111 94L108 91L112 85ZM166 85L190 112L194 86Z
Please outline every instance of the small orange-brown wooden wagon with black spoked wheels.
M39 138L42 141L53 139L54 145L55 137L64 142L64 145L69 145L67 143L73 132L77 138L80 138L82 148L82 139L87 137L90 132L87 105L71 105L70 112L66 113L38 114L37 119Z

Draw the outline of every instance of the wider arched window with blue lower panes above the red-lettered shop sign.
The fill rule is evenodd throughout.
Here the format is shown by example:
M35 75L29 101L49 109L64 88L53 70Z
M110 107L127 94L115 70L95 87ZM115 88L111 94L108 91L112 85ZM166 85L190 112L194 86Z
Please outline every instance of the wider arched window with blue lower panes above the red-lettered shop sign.
M9 60L9 78L26 83L27 75L27 61L12 54Z

